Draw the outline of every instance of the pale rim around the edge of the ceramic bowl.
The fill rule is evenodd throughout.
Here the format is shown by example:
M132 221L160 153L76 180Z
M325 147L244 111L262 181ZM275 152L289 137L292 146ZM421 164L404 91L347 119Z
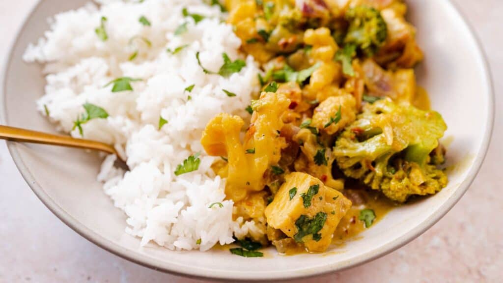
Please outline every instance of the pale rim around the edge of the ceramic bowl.
M42 2L45 0L37 0L37 3L31 8L31 11L27 14L27 16L23 20L23 24L21 25L20 28L18 28L16 32L16 36L14 40L11 42L9 51L5 56L7 56L6 60L4 60L5 65L3 67L2 71L2 77L0 77L0 122L3 124L8 124L8 119L7 119L7 105L5 103L5 93L6 93L6 84L5 84L5 78L7 75L7 70L9 69L9 66L13 63L13 53L14 53L14 46L16 43L19 41L19 37L22 32L26 30L26 25L28 22L28 19L30 19L33 14L39 9L40 5ZM464 193L468 190L469 186L475 179L477 173L480 170L480 167L482 166L482 163L487 155L487 151L489 149L490 145L490 140L492 137L492 131L494 127L494 111L495 111L495 96L494 96L494 86L493 86L493 79L492 79L492 74L491 70L489 68L488 60L487 60L487 55L485 53L485 50L483 48L483 45L473 29L472 25L468 21L467 17L460 11L459 7L452 2L452 0L444 0L449 8L453 11L453 13L461 19L462 25L464 25L464 28L468 31L468 35L471 37L471 40L475 43L475 48L477 51L477 55L479 59L481 60L482 66L483 66L483 78L484 81L486 82L486 87L487 87L487 93L485 94L488 99L488 108L486 109L486 127L484 129L484 135L482 138L482 144L480 147L480 151L477 153L477 156L474 159L473 165L466 175L466 178L461 182L459 187L455 190L454 194L447 199L433 214L432 216L423 221L422 223L419 223L415 228L407 232L406 234L402 235L397 241L392 242L392 243L387 243L383 246L381 246L378 249L375 249L373 251L370 251L368 253L359 255L353 259L343 261L339 263L337 268L332 268L330 266L330 263L326 263L323 266L316 267L316 268L309 268L308 270L299 270L301 272L293 272L293 273L282 273L282 272L275 272L275 273L261 273L257 275L247 275L247 274L240 274L236 272L228 272L228 271L219 271L215 272L212 274L207 274L205 270L202 269L197 269L194 267L188 268L184 266L169 266L169 267L162 267L156 264L156 260L153 258L150 258L146 255L137 253L132 250L128 250L108 239L105 237L99 235L95 231L87 228L85 225L81 224L78 220L74 219L72 216L70 216L64 209L62 209L46 192L45 190L37 183L35 180L34 176L30 172L30 169L27 167L27 165L24 163L22 160L20 153L17 148L17 144L13 142L7 142L7 147L9 149L9 152L14 160L14 163L16 164L18 170L21 172L21 175L23 178L26 180L30 188L33 190L33 192L37 195L37 197L44 203L44 205L59 219L61 220L64 224L66 224L68 227L70 227L73 231L75 231L77 234L82 236L83 238L87 239L88 241L94 243L95 245L107 250L108 252L111 252L117 256L120 256L124 259L127 259L131 262L134 262L136 264L162 271L162 272L167 272L175 275L181 275L181 276L186 276L186 277L192 277L192 278L203 278L203 279L223 279L223 280L285 280L285 279L294 279L294 278L306 278L306 277L312 277L312 276L318 276L322 274L327 274L327 273L333 273L337 271L342 271L351 267L355 267L361 264L364 264L366 262L372 261L374 259L377 259L381 256L384 256L388 253L391 253L392 251L402 247L403 245L407 244L408 242L412 241L416 237L420 236L424 232L426 232L430 227L432 227L435 223L437 223L444 215L448 213L448 211L459 201L459 199L464 195Z

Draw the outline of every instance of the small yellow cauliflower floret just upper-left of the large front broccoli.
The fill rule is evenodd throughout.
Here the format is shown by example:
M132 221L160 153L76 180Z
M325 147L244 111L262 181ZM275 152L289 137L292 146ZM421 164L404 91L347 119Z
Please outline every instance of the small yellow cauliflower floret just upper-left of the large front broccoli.
M337 114L341 109L341 119L337 120ZM334 120L336 119L336 120ZM332 96L321 102L312 118L311 125L334 134L356 119L356 101L349 94Z

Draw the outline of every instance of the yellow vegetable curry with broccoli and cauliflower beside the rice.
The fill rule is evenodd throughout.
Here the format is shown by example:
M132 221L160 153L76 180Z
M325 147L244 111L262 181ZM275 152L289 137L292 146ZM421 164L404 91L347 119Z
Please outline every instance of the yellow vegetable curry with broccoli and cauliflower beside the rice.
M263 89L249 123L222 113L201 143L222 157L213 169L234 218L261 227L240 241L322 252L447 185L437 168L447 126L416 86L423 53L403 2L226 3L243 51L262 63ZM260 256L252 251L233 253Z

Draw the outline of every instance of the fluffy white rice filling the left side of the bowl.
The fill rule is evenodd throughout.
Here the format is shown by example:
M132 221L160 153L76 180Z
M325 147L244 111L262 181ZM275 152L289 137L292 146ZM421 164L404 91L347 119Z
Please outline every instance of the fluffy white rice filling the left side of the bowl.
M127 157L130 172L113 167L115 156L108 156L98 179L116 207L127 215L125 231L140 237L141 245L154 241L169 249L208 250L216 243L232 242L232 234L257 230L255 223L232 221L231 200L224 200L225 180L215 176L210 166L214 157L204 154L200 137L208 121L220 112L242 117L251 94L259 91L254 59L247 57L246 67L229 78L207 75L198 65L217 71L223 64L222 53L234 60L240 40L232 27L221 22L217 6L200 0L102 0L102 6L88 4L75 11L56 15L50 30L24 59L45 64L47 86L37 102L38 109L58 129L81 137L72 130L73 121L85 112L89 102L104 108L107 119L83 124L83 137L115 145ZM182 9L204 15L197 25L184 18ZM151 26L138 19L145 16ZM95 33L106 17L109 39L101 41ZM189 22L188 31L174 34ZM151 47L142 40L146 38ZM176 55L166 52L188 44ZM138 50L133 61L129 57ZM134 91L112 93L104 87L120 77L141 78L132 83ZM186 87L195 84L190 93ZM236 94L228 97L222 89ZM159 116L169 121L157 130ZM195 172L175 176L174 171L192 154L201 153L201 165ZM215 205L221 202L223 207ZM242 226L242 228L241 228ZM197 244L200 240L200 244Z

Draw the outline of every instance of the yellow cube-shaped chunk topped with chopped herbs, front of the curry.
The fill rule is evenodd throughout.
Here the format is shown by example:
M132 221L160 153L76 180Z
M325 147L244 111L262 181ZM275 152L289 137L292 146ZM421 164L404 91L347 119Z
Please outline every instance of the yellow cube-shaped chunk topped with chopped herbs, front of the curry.
M341 192L309 174L294 172L266 208L267 224L280 229L310 252L325 251L351 207Z

